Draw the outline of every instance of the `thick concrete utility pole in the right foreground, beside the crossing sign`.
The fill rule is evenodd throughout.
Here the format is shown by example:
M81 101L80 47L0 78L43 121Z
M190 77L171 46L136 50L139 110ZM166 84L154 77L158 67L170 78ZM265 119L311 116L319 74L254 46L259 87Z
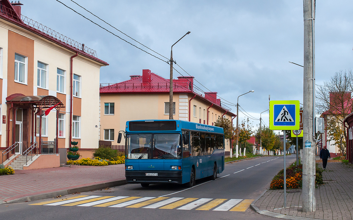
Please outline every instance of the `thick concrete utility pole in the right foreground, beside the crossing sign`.
M315 212L315 0L304 0L303 212Z

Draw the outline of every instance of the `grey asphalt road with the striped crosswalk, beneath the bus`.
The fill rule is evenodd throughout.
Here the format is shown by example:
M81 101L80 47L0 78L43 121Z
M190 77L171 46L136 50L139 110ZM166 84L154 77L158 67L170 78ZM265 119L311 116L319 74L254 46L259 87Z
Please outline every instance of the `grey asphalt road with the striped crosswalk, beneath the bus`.
M295 155L287 157L288 163L294 161ZM282 168L283 157L259 157L226 164L225 171L219 174L216 180L198 180L196 181L197 185L192 188L168 184L151 184L148 188L143 188L140 184L126 184L107 190L62 196L59 199L2 204L0 205L0 220L271 219L252 211L249 208L249 203L256 200L269 187L273 176ZM109 206L124 207L100 207L107 203L99 203L100 200L103 200L102 197L97 196L107 196L104 199L112 202ZM81 198L76 199L80 201L69 202L66 200L73 197ZM119 205L123 203L115 202L118 199L130 203ZM136 199L139 199L140 202L133 203L133 200ZM168 199L175 201L168 203L166 202ZM76 203L72 203L75 201ZM89 202L95 203L88 204ZM143 208L147 206L150 208Z

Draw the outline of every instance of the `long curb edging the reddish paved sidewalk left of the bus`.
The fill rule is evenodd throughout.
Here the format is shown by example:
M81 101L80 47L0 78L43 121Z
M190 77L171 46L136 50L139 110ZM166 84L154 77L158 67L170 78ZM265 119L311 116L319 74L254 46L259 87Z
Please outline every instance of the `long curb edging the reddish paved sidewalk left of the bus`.
M71 189L53 191L50 193L42 193L42 194L37 194L37 195L24 196L24 197L20 197L17 199L6 201L6 202L2 201L2 202L0 202L0 204L48 199L48 198L59 196L59 195L69 195L69 194L76 193L76 192L82 193L82 192L94 191L94 190L98 190L98 189L105 189L105 188L109 188L109 187L121 186L124 184L126 184L126 180L111 181L111 182L99 183L99 184L94 184L94 185L80 187L80 188L71 188Z

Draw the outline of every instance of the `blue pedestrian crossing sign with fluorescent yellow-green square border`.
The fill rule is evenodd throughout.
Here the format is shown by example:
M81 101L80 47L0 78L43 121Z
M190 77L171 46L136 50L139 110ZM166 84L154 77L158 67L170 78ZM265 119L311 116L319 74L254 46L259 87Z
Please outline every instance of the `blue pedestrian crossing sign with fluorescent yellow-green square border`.
M270 101L271 130L299 130L299 101Z

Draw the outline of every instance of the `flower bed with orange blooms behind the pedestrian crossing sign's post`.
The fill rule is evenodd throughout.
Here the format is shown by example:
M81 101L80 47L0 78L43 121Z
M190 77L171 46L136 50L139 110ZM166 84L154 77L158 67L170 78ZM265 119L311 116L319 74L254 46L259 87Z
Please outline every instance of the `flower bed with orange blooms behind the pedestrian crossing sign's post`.
M270 189L283 189L283 169L272 179ZM303 165L300 164L298 167L294 164L290 165L286 169L286 188L297 189L302 187L303 182ZM322 180L322 169L316 165L316 185L323 184Z

